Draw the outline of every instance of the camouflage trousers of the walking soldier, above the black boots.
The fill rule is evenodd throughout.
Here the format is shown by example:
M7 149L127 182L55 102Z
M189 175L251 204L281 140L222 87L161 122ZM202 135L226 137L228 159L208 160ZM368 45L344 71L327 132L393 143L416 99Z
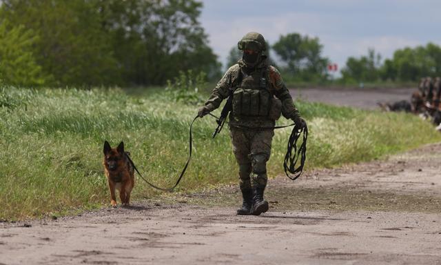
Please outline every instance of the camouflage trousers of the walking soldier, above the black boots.
M267 161L274 129L229 128L233 152L239 165L240 189L267 185Z

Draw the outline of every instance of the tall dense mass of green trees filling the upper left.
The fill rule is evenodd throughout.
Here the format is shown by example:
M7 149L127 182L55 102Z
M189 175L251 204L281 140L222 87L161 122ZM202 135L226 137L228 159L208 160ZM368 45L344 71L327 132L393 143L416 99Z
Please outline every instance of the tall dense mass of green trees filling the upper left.
M165 84L218 75L194 0L0 1L0 79L18 86Z

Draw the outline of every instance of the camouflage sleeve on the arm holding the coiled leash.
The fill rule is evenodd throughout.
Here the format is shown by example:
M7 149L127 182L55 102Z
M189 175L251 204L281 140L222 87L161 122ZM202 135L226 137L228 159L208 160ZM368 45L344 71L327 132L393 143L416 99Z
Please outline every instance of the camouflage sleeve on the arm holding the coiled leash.
M271 88L274 95L282 101L282 115L287 119L292 119L298 116L298 110L294 106L291 94L285 83L283 83L280 72L274 67L269 66L269 81L271 82Z

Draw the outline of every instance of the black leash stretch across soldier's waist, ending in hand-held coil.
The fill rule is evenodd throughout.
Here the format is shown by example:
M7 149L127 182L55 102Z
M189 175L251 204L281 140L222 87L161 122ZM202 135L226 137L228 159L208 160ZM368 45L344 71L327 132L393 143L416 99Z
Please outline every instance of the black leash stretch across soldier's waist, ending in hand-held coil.
M216 119L219 119L218 117L212 115L211 113L208 114L212 117L215 117ZM300 177L306 161L306 143L308 139L308 127L306 124L304 128L300 128L298 124L254 128L249 126L230 124L228 121L226 122L227 124L229 124L229 126L233 126L236 128L254 129L254 130L280 129L280 128L287 128L294 126L294 128L291 131L291 135L289 135L287 153L285 155L285 160L283 161L283 169L285 170L285 174L287 175L287 177L291 180L296 180L298 177ZM297 141L300 138L300 135L302 135L302 133L303 133L303 141L300 147L297 148ZM300 157L300 165L296 168L296 164L299 157ZM290 176L289 173L294 174L294 176Z

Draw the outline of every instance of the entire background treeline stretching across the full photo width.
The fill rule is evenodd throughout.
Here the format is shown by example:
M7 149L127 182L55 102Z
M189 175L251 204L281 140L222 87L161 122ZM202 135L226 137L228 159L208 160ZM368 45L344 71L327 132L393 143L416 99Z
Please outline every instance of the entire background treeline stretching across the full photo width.
M198 21L201 8L196 0L0 0L0 83L155 86L188 70L217 79L222 67ZM281 35L267 50L288 83L331 81L318 37ZM234 45L228 66L241 56ZM341 73L332 81L417 82L441 76L441 48L403 48L384 60L368 50Z

